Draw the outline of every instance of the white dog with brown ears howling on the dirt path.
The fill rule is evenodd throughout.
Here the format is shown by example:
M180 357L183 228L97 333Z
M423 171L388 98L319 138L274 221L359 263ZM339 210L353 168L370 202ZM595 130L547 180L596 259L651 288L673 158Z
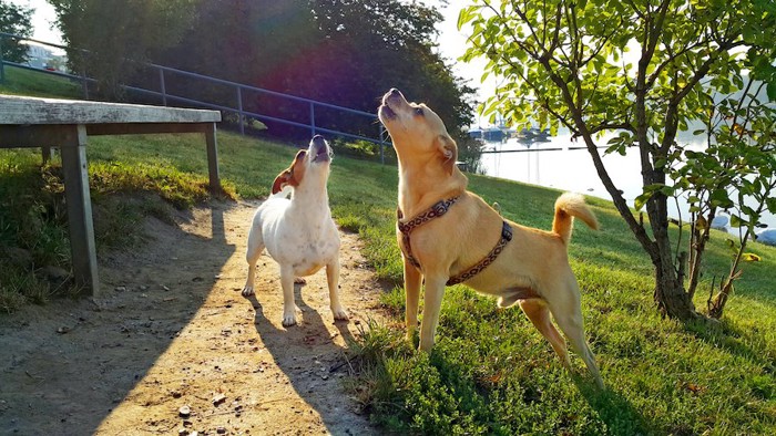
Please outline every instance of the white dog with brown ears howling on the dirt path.
M294 278L310 276L326 266L331 312L336 320L348 314L339 302L339 232L331 219L326 183L331 149L316 135L306 150L299 150L290 167L273 184L273 195L256 210L248 233L248 278L243 295L254 294L256 261L266 247L280 266L283 325L296 324ZM287 198L286 187L292 187Z

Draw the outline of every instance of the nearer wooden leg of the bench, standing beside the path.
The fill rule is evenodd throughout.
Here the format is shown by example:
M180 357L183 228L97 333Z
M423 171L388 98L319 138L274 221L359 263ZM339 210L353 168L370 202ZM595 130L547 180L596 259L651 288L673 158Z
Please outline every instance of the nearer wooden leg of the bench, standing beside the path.
M60 153L64 173L73 276L76 286L83 287L92 297L96 297L100 292L100 280L86 170L86 127L78 125L71 128L72 134L69 137L74 137L75 141L60 142Z

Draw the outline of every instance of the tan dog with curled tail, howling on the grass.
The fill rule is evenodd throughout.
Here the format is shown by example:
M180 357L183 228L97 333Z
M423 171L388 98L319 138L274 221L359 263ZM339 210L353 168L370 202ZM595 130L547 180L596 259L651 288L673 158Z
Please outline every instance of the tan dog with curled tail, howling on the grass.
M553 325L552 314L595 382L603 386L584 338L580 290L566 252L573 217L598 228L595 216L583 197L563 194L558 198L551 232L504 221L482 198L466 190L468 179L456 166L456 143L433 111L423 104L408 103L400 92L390 90L382 97L379 117L399 159L400 224L406 230L407 226L421 222L412 228L410 237L397 231L405 261L408 338L412 338L418 325L418 300L423 280L420 350L428 351L433 345L446 283L451 277L460 280L460 274L490 257L489 264L473 277L464 276L466 280L461 281L479 292L498 297L501 308L520 304L571 371L565 341ZM438 204L453 198L451 205L440 207ZM432 206L437 211L430 215L437 217L427 219ZM504 242L493 258L492 253L499 251L494 247L510 233L511 240Z

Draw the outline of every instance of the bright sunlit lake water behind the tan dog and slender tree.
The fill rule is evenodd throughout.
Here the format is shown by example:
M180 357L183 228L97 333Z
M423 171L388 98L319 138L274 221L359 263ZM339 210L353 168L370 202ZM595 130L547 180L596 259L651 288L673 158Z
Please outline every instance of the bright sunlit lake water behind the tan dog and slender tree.
M607 138L596 141L605 145ZM690 147L701 149L700 143L692 134L685 133L677 141ZM533 138L510 138L507 142L487 142L486 150L504 153L484 153L481 163L487 175L533 185L571 190L611 200L603 183L595 172L584 143L572 141L571 134L559 133L557 136L534 136ZM601 153L603 154L603 149ZM603 163L614 185L623 191L630 206L642 193L641 164L639 150L630 148L625 156L616 153L603 156ZM678 207L668 200L668 216L690 220L688 205L680 199ZM776 217L764 216L760 220L768 227L776 227ZM737 235L737 229L735 229Z

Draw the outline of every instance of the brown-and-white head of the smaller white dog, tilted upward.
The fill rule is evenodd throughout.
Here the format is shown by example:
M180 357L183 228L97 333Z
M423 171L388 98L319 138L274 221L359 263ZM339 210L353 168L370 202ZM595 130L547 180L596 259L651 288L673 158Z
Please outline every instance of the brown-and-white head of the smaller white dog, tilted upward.
M296 154L292 165L275 177L272 193L277 194L286 186L297 189L306 184L326 186L331 163L331 148L320 135L315 135L307 149Z

